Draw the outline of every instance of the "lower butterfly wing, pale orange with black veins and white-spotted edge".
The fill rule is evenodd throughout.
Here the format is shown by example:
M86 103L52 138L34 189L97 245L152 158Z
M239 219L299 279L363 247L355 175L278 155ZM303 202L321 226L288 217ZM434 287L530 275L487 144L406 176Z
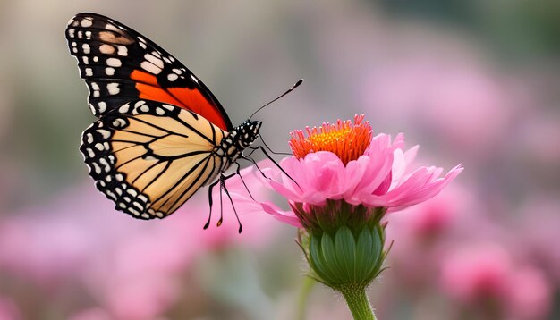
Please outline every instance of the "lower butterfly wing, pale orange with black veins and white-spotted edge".
M225 131L174 105L136 100L83 132L89 175L115 208L140 219L171 215L223 169Z

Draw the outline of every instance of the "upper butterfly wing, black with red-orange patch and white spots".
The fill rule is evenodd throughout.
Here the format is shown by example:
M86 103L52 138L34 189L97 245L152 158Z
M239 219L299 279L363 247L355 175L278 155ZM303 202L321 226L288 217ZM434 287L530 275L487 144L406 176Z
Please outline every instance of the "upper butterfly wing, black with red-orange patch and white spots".
M137 99L177 105L224 131L233 129L210 90L173 55L133 29L96 13L80 13L66 28L70 53L100 117Z

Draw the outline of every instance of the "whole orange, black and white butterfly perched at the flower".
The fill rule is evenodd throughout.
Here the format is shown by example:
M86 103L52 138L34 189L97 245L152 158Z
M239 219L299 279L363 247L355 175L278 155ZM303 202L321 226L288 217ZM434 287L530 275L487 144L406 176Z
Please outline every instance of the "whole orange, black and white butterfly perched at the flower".
M115 209L144 220L171 215L208 184L211 206L212 187L224 187L232 176L225 170L259 138L262 122L233 127L187 67L113 19L79 13L65 35L98 117L80 147L97 189Z

